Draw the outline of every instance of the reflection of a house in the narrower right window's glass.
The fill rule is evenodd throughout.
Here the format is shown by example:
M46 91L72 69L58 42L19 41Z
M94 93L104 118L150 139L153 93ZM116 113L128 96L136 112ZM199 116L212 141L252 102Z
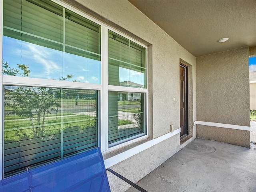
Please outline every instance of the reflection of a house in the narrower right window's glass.
M134 83L131 81L120 82L120 86L144 88L144 85ZM120 94L118 95L118 101L137 101L140 99L140 97L141 97L140 93L120 92Z

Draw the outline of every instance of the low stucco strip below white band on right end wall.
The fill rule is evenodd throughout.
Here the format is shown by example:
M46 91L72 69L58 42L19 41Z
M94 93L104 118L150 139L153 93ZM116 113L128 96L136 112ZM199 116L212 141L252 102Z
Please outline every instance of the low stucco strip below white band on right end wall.
M196 137L198 138L210 139L250 148L250 131L204 125L197 125L196 130Z

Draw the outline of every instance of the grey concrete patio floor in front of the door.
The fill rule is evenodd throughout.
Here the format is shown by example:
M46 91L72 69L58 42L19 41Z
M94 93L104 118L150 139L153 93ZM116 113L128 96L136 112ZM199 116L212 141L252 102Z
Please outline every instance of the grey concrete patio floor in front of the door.
M256 192L254 148L196 138L138 185L148 192Z

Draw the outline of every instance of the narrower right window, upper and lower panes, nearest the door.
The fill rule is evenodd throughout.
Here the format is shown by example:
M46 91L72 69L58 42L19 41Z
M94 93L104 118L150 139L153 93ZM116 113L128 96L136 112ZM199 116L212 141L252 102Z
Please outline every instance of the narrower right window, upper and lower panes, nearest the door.
M110 30L108 32L108 84L118 87L146 88L146 48ZM118 90L118 87L115 89ZM144 101L144 92L121 90L108 92L108 144L110 147L146 134Z

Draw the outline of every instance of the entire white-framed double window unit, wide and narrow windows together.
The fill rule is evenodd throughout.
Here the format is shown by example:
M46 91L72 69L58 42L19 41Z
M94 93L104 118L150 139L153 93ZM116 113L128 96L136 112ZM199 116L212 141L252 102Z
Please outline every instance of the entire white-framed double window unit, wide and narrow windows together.
M146 136L145 46L57 0L0 3L0 179Z

